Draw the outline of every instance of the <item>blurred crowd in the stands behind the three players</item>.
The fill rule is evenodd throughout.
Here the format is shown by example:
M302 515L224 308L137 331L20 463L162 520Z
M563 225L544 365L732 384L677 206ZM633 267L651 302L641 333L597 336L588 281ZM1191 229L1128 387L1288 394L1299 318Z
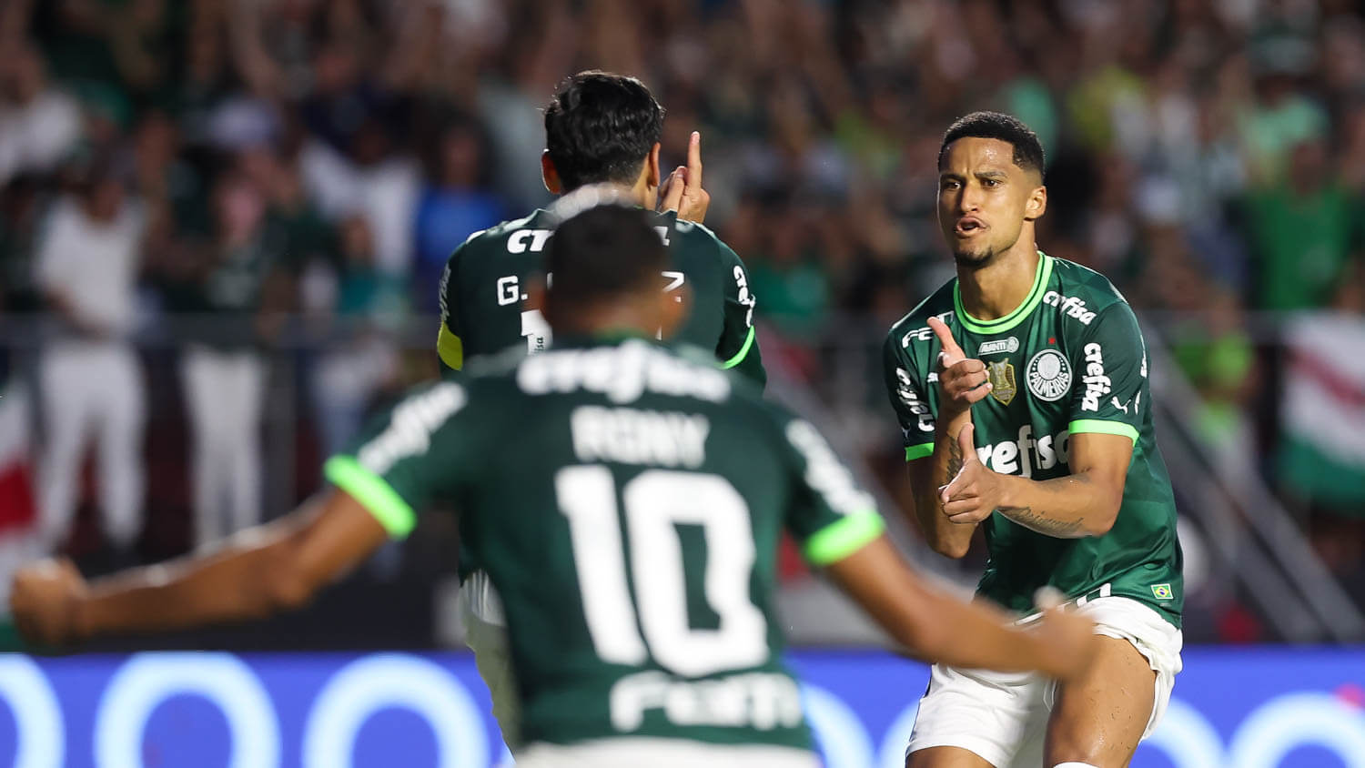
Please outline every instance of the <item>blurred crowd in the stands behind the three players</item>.
M1278 318L1365 312L1347 0L7 0L0 46L0 376L35 385L49 548L85 495L115 559L247 525L272 398L303 404L311 467L435 375L445 259L549 199L541 108L583 68L654 90L665 168L702 131L764 359L826 394L833 359L871 360L852 398L889 487L876 349L951 277L935 157L965 112L1037 131L1040 246L1119 285L1198 430L1272 482ZM1365 516L1286 499L1365 602Z

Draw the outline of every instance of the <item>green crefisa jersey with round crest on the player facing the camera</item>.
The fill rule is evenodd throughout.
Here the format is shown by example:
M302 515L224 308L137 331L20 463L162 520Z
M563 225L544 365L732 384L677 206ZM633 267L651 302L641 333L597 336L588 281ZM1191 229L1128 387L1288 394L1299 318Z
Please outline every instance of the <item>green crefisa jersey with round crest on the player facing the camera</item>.
M886 386L905 437L905 458L934 452L942 345L938 316L968 357L986 363L991 394L972 407L976 452L995 472L1061 477L1070 437L1125 435L1133 460L1108 533L1057 539L991 514L981 525L990 559L977 592L1021 612L1052 585L1072 597L1119 595L1153 607L1177 627L1183 604L1175 499L1156 447L1147 348L1133 310L1099 273L1040 254L1028 299L1007 316L973 319L949 281L886 338Z

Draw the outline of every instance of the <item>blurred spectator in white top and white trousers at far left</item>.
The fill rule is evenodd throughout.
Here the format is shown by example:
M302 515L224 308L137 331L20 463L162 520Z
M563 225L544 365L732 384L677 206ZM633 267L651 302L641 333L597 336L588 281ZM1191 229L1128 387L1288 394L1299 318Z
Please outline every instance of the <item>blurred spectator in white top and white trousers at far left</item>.
M56 321L40 364L44 458L40 536L56 550L79 501L86 442L97 442L100 507L117 552L142 527L145 387L128 336L136 315L143 232L138 202L106 164L82 173L81 192L53 207L37 282Z

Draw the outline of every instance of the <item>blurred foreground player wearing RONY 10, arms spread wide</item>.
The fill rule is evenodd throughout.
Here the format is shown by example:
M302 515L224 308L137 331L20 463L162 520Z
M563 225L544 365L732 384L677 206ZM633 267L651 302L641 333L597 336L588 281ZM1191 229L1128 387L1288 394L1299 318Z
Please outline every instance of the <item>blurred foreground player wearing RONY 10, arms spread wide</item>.
M64 641L298 606L442 502L504 599L521 768L814 768L774 614L784 529L915 653L1084 674L1088 621L1050 611L1010 629L930 588L811 424L652 340L685 307L658 291L667 256L644 211L590 209L545 255L546 353L416 390L328 461L334 488L317 503L216 551L90 585L70 563L20 570L20 632Z

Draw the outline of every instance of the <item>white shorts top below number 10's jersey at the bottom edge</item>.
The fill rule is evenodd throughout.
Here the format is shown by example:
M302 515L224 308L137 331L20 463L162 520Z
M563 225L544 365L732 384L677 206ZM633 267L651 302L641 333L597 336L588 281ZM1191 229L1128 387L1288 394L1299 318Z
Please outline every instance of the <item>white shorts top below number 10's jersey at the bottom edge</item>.
M532 743L517 768L820 768L814 752L790 746L721 745L687 739L613 738L572 745Z

